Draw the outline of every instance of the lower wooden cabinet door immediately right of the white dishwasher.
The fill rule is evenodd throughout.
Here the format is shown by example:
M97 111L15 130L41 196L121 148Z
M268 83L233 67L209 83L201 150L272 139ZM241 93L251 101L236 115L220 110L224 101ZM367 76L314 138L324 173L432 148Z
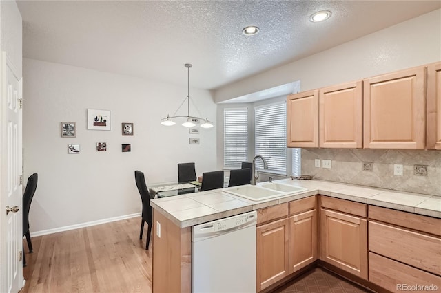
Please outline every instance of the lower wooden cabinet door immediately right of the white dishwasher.
M257 227L257 291L288 275L289 219Z

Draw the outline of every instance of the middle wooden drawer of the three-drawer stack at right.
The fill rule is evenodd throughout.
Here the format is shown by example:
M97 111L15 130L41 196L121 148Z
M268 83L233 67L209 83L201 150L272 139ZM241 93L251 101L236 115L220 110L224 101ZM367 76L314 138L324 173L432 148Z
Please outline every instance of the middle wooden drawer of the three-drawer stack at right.
M441 239L369 221L369 250L441 275Z

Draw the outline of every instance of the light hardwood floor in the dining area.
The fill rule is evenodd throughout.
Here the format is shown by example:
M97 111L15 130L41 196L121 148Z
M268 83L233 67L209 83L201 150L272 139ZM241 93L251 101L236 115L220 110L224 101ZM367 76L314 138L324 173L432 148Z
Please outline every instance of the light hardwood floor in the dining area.
M23 241L27 292L152 292L152 249L145 250L141 217ZM153 237L152 237L153 239Z

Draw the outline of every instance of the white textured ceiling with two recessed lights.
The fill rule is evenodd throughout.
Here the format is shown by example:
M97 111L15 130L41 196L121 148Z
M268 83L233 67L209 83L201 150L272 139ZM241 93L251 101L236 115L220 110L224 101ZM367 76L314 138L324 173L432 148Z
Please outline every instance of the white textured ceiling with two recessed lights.
M17 1L23 57L216 89L441 8L441 1ZM324 23L310 14L330 10ZM244 36L256 25L260 33Z

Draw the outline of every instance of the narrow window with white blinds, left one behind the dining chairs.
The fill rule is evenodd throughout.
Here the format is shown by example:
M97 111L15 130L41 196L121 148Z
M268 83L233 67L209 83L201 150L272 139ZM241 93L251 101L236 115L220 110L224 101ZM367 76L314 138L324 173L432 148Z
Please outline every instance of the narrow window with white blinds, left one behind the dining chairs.
M226 168L239 167L247 162L248 110L227 108L223 111L224 149L223 164Z

